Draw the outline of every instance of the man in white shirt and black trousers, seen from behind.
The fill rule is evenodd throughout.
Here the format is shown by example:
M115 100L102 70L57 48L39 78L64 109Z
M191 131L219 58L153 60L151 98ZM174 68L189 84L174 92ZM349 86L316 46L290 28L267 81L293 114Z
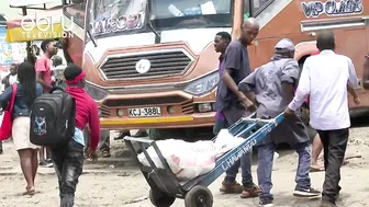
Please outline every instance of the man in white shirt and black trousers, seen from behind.
M298 92L286 114L294 114L310 95L310 125L320 134L324 147L325 181L321 207L334 207L340 191L340 165L350 127L347 83L357 88L358 78L351 59L333 51L335 36L332 32L322 32L316 46L321 54L306 59Z

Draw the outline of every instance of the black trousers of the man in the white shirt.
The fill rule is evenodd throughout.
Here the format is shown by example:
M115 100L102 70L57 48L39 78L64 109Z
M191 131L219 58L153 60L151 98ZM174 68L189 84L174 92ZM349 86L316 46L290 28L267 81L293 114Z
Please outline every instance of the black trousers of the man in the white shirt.
M322 199L335 204L340 191L340 166L345 159L348 128L317 130L324 149L325 181Z

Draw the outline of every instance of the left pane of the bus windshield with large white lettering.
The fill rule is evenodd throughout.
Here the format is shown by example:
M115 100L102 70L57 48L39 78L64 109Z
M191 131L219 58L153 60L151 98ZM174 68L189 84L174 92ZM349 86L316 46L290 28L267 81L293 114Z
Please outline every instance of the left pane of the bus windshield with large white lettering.
M139 32L145 27L147 0L92 0L89 30L99 38L119 32Z

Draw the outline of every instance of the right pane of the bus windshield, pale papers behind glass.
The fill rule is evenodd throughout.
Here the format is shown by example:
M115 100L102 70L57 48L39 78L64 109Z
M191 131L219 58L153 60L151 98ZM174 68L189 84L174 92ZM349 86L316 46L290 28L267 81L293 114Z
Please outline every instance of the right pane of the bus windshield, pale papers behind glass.
M231 0L152 0L150 20L161 30L232 26Z

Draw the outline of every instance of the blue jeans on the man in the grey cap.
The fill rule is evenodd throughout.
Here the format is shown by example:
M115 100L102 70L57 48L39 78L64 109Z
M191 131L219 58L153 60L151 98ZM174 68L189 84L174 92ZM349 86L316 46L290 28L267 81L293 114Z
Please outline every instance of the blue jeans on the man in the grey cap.
M272 198L270 189L272 188L271 172L273 164L273 156L276 151L276 143L267 143L258 147L258 168L257 175L259 186L262 193L259 195L260 199ZM295 175L295 183L299 187L309 189L311 187L310 181L310 162L311 162L311 145L310 142L297 143L290 146L299 154L299 165Z

